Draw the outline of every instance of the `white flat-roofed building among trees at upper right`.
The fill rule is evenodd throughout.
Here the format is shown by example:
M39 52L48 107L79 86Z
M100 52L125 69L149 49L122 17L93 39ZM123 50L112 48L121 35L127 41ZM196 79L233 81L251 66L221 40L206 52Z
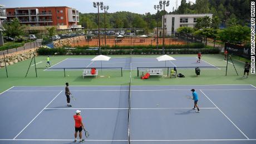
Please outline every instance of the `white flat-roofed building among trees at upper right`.
M165 35L171 36L179 27L195 27L196 19L208 16L213 17L213 14L166 14L163 23Z

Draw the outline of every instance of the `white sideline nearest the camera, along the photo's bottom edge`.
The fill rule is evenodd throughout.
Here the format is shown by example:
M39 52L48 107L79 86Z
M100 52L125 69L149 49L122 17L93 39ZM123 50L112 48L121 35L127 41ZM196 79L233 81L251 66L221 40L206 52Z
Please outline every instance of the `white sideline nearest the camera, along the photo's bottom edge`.
M74 141L68 139L0 139L0 141ZM85 140L85 141L128 141L128 140ZM130 140L130 141L256 141L256 139L193 139L193 140Z

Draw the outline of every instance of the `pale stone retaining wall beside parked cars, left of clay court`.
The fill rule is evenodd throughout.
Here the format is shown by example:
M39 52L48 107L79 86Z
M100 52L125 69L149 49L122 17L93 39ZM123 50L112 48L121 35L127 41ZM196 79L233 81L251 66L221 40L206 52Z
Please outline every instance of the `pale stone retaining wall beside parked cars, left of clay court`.
M57 47L65 46L65 45L72 45L74 43L74 41L75 41L75 43L77 43L77 41L85 41L85 36L60 39L60 40L54 41L53 45L55 48L57 48Z

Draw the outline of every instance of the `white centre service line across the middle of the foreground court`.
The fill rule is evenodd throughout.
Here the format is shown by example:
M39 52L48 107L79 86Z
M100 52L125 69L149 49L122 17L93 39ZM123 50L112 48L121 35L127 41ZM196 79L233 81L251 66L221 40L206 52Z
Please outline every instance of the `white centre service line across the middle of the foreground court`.
M191 107L169 107L169 108L131 108L131 110L179 110L191 109ZM216 107L200 107L200 109L218 109ZM45 110L129 110L129 108L45 108Z

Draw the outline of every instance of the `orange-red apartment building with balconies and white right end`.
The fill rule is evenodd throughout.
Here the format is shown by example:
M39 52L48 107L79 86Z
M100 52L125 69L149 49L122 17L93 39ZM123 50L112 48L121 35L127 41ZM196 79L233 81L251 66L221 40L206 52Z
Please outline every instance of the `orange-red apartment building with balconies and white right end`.
M46 26L57 26L57 29L81 28L79 12L75 8L60 7L16 7L6 8L7 22L18 18L22 24L31 26L33 30Z

